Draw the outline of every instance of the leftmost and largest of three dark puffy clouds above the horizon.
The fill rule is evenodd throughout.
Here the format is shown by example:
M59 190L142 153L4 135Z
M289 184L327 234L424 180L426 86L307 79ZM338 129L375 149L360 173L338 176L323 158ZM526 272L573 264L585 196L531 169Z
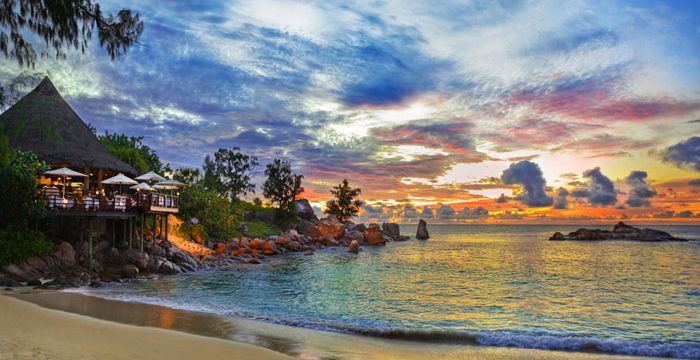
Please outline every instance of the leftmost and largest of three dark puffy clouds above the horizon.
M525 160L511 164L508 169L503 171L501 180L507 185L522 185L524 192L516 198L527 206L550 206L554 202L551 196L547 196L545 190L547 181L542 176L542 170L531 161Z

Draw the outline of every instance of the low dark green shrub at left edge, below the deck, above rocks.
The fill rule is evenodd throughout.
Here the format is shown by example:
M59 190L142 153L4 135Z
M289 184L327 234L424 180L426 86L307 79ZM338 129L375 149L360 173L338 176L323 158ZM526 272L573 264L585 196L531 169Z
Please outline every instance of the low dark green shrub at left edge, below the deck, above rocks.
M56 246L38 231L0 229L0 265L19 264L53 252Z

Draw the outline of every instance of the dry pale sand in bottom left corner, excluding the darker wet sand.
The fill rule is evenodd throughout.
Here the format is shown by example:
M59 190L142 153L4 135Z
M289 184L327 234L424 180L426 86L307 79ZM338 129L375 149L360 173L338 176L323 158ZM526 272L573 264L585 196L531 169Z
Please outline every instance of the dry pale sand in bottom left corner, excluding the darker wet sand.
M289 359L252 345L50 310L0 295L0 359Z

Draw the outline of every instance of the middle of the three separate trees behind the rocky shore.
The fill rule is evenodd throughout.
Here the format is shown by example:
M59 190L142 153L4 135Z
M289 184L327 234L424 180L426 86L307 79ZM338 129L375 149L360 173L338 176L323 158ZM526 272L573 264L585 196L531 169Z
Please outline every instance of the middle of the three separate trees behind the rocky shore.
M263 195L273 204L277 203L281 210L289 211L291 204L304 191L301 187L304 175L292 173L289 161L280 159L274 159L272 163L267 164L265 175L267 180L263 184Z

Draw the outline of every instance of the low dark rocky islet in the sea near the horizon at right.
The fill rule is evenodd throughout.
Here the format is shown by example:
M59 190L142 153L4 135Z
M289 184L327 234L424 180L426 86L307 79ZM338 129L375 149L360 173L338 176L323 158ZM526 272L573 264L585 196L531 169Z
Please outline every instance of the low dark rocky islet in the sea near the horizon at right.
M596 240L633 240L633 241L649 241L649 242L661 242L661 241L688 241L687 239L677 238L673 235L655 229L639 229L634 226L627 225L620 221L613 227L613 231L601 230L601 229L578 229L574 232L570 232L568 235L564 235L560 232L555 232L549 240L554 241L566 241L566 240L579 240L579 241L596 241Z

